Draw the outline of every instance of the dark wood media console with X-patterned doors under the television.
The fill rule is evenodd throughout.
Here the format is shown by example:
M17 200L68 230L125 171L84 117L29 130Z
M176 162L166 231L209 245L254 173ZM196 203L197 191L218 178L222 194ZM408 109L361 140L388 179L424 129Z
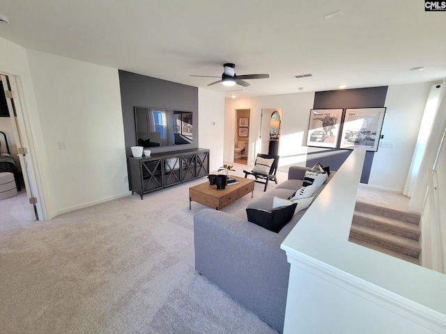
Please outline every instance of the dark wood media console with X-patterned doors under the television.
M196 148L152 154L151 157L128 157L132 194L173 186L209 174L209 150Z

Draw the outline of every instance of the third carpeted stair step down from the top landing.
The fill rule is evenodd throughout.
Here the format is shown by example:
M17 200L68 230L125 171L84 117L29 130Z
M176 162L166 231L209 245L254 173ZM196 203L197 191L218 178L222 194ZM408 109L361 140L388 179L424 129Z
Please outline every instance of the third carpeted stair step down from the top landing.
M367 226L353 223L351 225L350 236L355 239L366 241L369 244L394 250L395 252L401 254L409 255L415 258L420 256L421 248L418 241L399 237L395 234L382 232L375 230L374 228L368 228Z

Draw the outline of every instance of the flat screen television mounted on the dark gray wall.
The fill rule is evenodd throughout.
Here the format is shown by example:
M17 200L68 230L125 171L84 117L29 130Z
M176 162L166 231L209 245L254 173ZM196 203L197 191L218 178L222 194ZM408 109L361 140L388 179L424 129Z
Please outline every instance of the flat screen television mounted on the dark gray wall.
M137 145L144 148L193 143L192 111L134 107Z

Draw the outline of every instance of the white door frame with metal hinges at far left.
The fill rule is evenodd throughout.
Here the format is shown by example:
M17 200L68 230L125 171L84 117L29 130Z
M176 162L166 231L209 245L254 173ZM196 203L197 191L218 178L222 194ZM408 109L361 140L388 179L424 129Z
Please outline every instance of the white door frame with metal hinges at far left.
M38 164L36 161L36 148L33 143L33 134L31 132L31 122L29 120L29 113L26 109L26 102L24 100L24 91L22 88L22 81L19 76L15 74L0 71L3 79L7 79L9 87L3 87L5 90L13 91L13 98L6 98L8 104L8 111L13 126L15 142L17 148L26 148L25 154L19 152L20 167L24 178L26 194L28 198L36 198L36 203L31 205L33 215L39 221L47 220L48 214L45 205L45 197L42 191L42 182L40 173L38 172ZM14 101L15 113L12 107ZM16 118L15 118L16 117Z

